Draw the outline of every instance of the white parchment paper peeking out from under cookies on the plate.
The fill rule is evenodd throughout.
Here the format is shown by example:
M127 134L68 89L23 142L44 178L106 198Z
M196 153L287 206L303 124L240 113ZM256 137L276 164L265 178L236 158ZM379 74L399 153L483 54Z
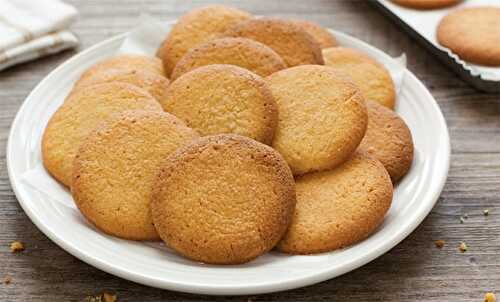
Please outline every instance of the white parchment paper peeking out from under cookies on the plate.
M139 24L132 28L127 34L117 54L132 53L154 56L156 50L170 30L173 22L160 22L149 16L141 16ZM396 91L399 93L403 87L403 80L406 72L406 56L403 54L398 58L391 58L383 54L380 50L370 47L367 44L360 43L358 40L340 32L332 31L342 46L357 48L367 53L383 64L390 72ZM40 150L41 135L37 138L36 145ZM34 169L25 172L21 181L37 190L41 194L47 195L52 200L63 203L68 207L75 207L70 191L59 182L57 182L44 168L41 160L41 151L38 151L39 163Z

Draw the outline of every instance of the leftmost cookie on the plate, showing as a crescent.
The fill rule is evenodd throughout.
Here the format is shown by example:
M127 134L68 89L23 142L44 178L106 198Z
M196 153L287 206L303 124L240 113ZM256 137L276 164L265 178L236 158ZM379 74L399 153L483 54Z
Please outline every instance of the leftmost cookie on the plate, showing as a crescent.
M162 111L147 92L126 83L105 83L72 93L49 120L42 138L45 168L71 185L73 159L81 142L111 115L133 109Z

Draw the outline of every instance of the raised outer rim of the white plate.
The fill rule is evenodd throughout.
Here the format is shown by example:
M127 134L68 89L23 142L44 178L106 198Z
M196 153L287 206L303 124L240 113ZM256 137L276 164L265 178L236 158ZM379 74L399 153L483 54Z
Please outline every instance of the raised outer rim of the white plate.
M383 52L382 50L376 48L375 46L372 46L356 37L344 34L342 32L334 31L331 30L335 35L338 36L344 36L349 39L355 39L357 43L360 43L363 45L363 47L367 47L373 51L382 53L385 56L389 56L387 53ZM162 289L169 289L169 290L174 290L174 291L181 291L181 292L187 292L187 293L195 293L195 294L208 294L208 295L248 295L248 294L263 294L263 293L271 293L271 292L277 292L277 291L283 291L283 290L289 290L289 289L294 289L298 287L303 287L303 286L308 286L312 285L318 282L322 282L328 279L335 278L337 276L343 275L349 271L352 271L354 269L357 269L374 259L380 257L381 255L385 254L388 252L390 249L395 247L398 243L400 243L403 239L405 239L410 233L412 233L421 223L422 221L427 217L427 215L430 213L430 211L433 209L435 206L436 202L439 199L439 196L444 188L444 185L446 184L446 180L448 177L448 172L450 168L450 158L451 158L451 142L449 138L449 130L446 124L446 120L443 116L443 113L435 100L435 98L432 96L430 91L425 87L425 85L407 68L405 68L405 77L411 77L412 80L418 85L417 89L420 91L424 92L426 95L426 98L429 98L429 100L432 100L431 106L433 109L439 113L438 115L438 122L441 126L444 126L444 132L441 133L441 135L444 138L443 144L440 147L443 147L444 150L441 150L440 154L444 156L442 158L444 161L442 162L442 168L443 168L443 176L439 179L439 183L434 186L434 191L432 192L432 202L428 202L425 204L425 207L418 213L417 216L414 216L414 219L410 221L410 223L407 223L404 226L404 229L400 231L399 233L396 234L396 236L392 236L390 240L384 241L384 244L377 247L376 249L372 250L368 255L365 255L364 257L360 257L360 259L357 259L357 261L354 262L348 262L344 264L343 266L337 268L337 269L330 269L330 270L324 270L320 273L308 275L305 277L299 277L295 278L286 282L280 282L279 280L274 283L265 283L265 284L257 284L257 285L249 285L249 286L233 286L233 285L222 285L222 286L213 286L210 284L196 284L193 285L188 284L188 283L182 283L182 282L176 282L175 280L164 280L164 279L158 279L152 276L148 276L145 274L139 274L137 272L131 272L127 268L124 268L122 266L113 264L113 263L108 263L102 259L99 259L99 257L96 257L92 254L86 253L84 251L79 250L76 247L73 247L70 243L67 243L63 239L59 238L56 232L52 232L48 227L46 227L42 221L37 219L37 216L35 213L32 212L32 209L28 206L28 202L24 200L23 194L21 193L21 190L18 188L18 182L19 180L16 179L17 176L14 175L13 168L12 168L12 161L14 155L14 150L12 146L12 141L14 140L14 130L18 128L18 124L20 123L21 119L21 113L23 113L26 110L26 100L30 99L32 95L35 95L38 90L42 89L43 86L47 82L51 80L51 78L54 76L54 74L57 74L59 70L63 69L67 64L71 64L71 62L79 60L81 56L85 56L87 53L93 52L95 49L98 49L106 44L116 42L120 39L125 39L126 36L129 34L129 32L121 33L115 36L112 36L108 39L105 39L101 42L98 42L91 47L75 54L68 60L64 61L61 63L58 67L56 67L54 70L52 70L47 76L45 76L36 86L35 88L28 94L28 96L25 98L23 101L23 104L19 107L18 112L16 113L16 116L11 124L11 128L9 131L9 136L7 140L7 148L6 148L6 164L7 164L7 171L9 175L9 181L11 183L11 187L16 195L16 199L18 200L19 204L23 208L24 212L27 214L27 216L30 218L30 220L37 226L37 228L42 231L51 241L56 243L58 246L60 246L62 249L70 253L71 255L75 256L76 258L82 260L83 262L94 266L100 270L103 270L107 273L113 274L115 276L134 281L140 284L144 284L147 286L153 286L157 288L162 288Z

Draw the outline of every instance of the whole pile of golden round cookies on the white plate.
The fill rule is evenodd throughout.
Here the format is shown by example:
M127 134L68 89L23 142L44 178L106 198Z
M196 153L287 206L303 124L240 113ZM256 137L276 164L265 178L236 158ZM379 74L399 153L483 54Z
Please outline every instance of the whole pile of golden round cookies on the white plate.
M382 223L413 159L382 65L317 24L217 5L157 57L92 66L45 129L46 169L98 229L237 264Z

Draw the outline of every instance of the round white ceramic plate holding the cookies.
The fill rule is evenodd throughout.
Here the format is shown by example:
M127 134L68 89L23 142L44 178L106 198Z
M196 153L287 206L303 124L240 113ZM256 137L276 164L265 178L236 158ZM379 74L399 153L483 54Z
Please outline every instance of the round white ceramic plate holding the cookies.
M394 64L380 50L334 33L341 44ZM54 198L50 190L42 192L23 177L41 166L43 129L73 83L93 63L114 55L124 39L125 35L119 35L99 43L43 79L21 106L7 146L9 177L24 211L51 240L90 265L145 285L191 293L242 295L292 289L339 276L384 254L420 224L438 199L450 159L446 123L429 91L405 69L397 112L413 134L415 159L395 190L383 225L363 242L314 256L271 252L245 265L215 266L186 260L158 243L126 241L99 232L80 215L69 195L68 200ZM55 191L62 190L47 173L37 177Z

